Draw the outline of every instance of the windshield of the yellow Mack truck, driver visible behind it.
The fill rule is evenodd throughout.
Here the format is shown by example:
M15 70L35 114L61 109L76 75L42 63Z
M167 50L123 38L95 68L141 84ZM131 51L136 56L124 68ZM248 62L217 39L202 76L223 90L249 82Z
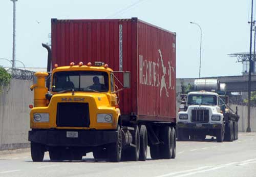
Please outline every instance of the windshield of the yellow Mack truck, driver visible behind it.
M53 75L53 92L108 92L108 73L100 71L62 71Z

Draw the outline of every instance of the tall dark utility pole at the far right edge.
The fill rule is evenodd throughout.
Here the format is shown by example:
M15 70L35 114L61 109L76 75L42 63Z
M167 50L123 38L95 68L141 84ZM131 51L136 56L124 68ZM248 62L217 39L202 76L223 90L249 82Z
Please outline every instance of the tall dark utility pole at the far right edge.
M253 17L253 0L251 0L251 27L250 27L250 56L249 56L249 74L248 74L248 111L247 111L247 129L246 132L251 132L250 127L250 113L251 113L251 69L252 69L252 62L251 62L251 46L252 46L252 17Z

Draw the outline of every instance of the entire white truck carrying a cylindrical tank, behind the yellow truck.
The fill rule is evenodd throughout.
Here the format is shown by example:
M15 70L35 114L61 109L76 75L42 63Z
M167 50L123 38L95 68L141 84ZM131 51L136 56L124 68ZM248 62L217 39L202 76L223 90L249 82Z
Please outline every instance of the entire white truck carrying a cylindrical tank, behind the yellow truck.
M217 142L238 139L239 116L228 106L226 85L218 79L196 79L194 91L180 105L177 119L177 138L186 141L193 137L214 136Z

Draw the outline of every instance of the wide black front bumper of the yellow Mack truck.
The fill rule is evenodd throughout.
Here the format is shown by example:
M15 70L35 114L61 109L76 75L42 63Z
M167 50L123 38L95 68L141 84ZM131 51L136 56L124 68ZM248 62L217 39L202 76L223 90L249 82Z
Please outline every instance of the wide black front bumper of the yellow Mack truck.
M67 138L67 131L77 131L77 138ZM29 141L46 146L95 147L117 142L116 130L39 130L29 131Z

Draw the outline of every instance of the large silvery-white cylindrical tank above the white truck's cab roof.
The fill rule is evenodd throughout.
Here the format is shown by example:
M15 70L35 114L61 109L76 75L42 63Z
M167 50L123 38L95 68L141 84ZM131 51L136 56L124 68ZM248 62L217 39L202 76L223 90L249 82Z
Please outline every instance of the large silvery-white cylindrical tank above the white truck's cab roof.
M220 81L219 79L196 79L195 82L195 89L197 91L219 91L220 90Z

